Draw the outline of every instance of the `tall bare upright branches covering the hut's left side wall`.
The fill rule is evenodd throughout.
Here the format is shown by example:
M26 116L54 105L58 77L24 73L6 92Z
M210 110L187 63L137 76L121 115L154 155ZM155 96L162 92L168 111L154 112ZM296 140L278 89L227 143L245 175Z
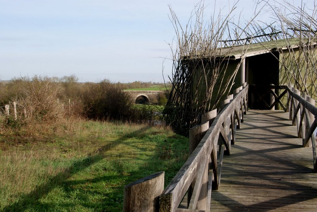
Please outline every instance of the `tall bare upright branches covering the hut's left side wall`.
M170 20L174 26L176 48L172 50L172 89L165 106L165 120L178 132L187 133L191 126L200 122L206 111L217 107L230 92L242 60L234 70L228 70L229 55L237 45L243 45L243 53L252 42L253 35L247 30L254 18L241 24L240 18L233 24L234 3L227 16L222 10L204 21L204 3L199 3L186 24L182 26L170 8ZM258 13L255 13L256 17ZM244 25L244 26L243 26ZM228 47L229 45L229 47Z

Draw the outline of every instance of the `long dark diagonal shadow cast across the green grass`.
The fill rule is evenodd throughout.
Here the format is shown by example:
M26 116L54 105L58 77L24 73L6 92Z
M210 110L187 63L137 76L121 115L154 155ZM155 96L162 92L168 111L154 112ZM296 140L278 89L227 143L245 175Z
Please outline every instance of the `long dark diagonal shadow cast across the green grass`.
M103 154L104 151L107 151L109 149L114 148L115 146L121 144L125 140L128 140L129 138L133 137L134 135L139 135L139 136L146 135L147 134L146 131L149 128L151 128L151 126L145 126L145 127L141 128L140 130L123 135L121 138L116 139L111 144L100 147L96 151L90 153L86 158L74 162L71 166L65 168L60 173L51 177L47 182L37 186L35 190L29 192L28 194L21 195L16 202L11 203L7 207L5 207L2 211L24 211L24 210L43 211L43 208L44 208L44 210L50 210L50 211L53 210L54 211L54 210L56 210L57 204L58 204L58 207L65 207L65 208L82 206L82 207L86 208L86 210L88 207L94 211L108 211L107 206L104 205L105 204L104 202L102 202L102 201L91 202L91 201L89 201L89 199L85 200L85 198L88 198L85 195L82 195L81 197L79 197L79 199L82 199L82 201L78 202L78 204L82 204L82 205L78 205L78 204L75 204L72 202L68 202L68 203L66 202L65 206L63 206L63 202L58 202L58 203L53 202L52 204L46 204L46 203L40 202L39 200L40 200L40 198L49 194L49 192L52 191L53 189L55 189L56 187L62 187L63 190L66 191L66 193L74 192L75 189L72 188L72 186L74 186L76 184L80 184L80 183L87 183L87 181L85 181L85 180L78 180L78 181L69 180L69 181L67 181L67 179L69 177L71 177L72 175L74 175L74 174L92 166L93 164L96 164L97 162L101 161L102 159L104 159L105 158L105 155ZM126 145L129 145L129 144L126 144ZM149 160L152 160L152 159L149 158ZM121 182L122 181L124 182L125 177L126 176L121 176L118 174L117 181L121 180ZM136 177L138 177L138 176L136 176ZM109 178L109 177L107 177L107 176L100 177L99 176L99 177L95 177L93 179L89 179L88 181L90 181L90 182L102 182L102 181L105 181L107 178ZM113 178L113 176L112 176L112 178ZM116 191L114 191L114 192L116 192ZM98 193L96 193L96 194L98 194ZM100 192L100 195L104 195L104 194L102 192ZM117 194L114 194L111 192L110 192L110 194L108 193L108 196L115 197L115 195L117 195ZM76 201L74 201L74 202L76 202ZM87 202L89 202L89 203L87 203ZM115 200L114 200L113 204L118 204L118 202L115 202ZM109 211L110 210L111 209L109 209ZM74 211L74 209L72 209L72 211Z

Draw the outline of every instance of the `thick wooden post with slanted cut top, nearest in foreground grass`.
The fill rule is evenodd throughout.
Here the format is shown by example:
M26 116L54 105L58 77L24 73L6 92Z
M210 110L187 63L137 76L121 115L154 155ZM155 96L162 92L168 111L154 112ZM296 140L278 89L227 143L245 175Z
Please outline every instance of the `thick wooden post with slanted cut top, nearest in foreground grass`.
M124 187L123 212L159 211L164 190L164 171L139 179Z

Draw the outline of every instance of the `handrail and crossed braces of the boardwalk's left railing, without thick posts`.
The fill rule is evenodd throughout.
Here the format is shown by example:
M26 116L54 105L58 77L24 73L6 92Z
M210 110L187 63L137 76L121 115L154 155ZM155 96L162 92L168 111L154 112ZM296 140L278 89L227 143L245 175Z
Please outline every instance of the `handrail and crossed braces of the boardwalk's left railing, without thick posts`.
M237 125L243 120L243 113L246 113L247 110L247 95L248 85L244 84L243 89L232 99L230 96L230 101L225 100L223 109L212 121L202 140L161 194L160 211L194 211L195 209L209 211L210 200L208 201L208 199L210 199L213 184L211 182L214 179L214 188L219 188L224 149L228 154L230 153L230 145L234 143ZM209 122L209 120L204 121ZM199 125L199 127L201 126ZM217 149L219 152L218 163ZM206 173L208 177L204 177ZM207 192L202 193L207 195L207 202L197 204L200 191L206 184ZM191 192L188 209L178 209L191 185L194 188Z

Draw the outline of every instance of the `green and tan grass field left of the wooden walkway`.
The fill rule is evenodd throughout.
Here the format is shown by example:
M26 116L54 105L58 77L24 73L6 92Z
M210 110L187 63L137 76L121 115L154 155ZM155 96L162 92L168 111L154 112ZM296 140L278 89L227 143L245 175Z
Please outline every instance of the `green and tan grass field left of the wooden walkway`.
M165 171L166 186L188 157L188 138L162 126L32 127L0 131L0 211L122 211L125 185Z

